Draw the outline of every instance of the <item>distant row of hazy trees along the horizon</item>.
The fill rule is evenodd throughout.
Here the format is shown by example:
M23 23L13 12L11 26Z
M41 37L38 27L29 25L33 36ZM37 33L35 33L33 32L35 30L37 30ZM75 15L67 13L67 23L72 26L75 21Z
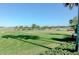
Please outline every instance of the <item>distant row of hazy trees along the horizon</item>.
M68 28L69 26L40 26L37 24L32 24L31 26L16 26L14 27L15 30L45 30L45 29L52 29L52 28Z

